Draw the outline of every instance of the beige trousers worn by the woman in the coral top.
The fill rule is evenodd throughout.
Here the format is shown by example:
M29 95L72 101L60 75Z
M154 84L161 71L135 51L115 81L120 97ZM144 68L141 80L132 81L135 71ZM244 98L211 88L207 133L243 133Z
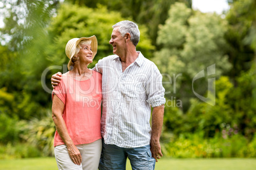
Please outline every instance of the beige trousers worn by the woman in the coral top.
M58 169L97 170L101 157L102 140L99 139L92 143L76 145L76 148L78 148L82 155L82 164L80 166L74 164L70 159L66 145L59 145L54 148Z

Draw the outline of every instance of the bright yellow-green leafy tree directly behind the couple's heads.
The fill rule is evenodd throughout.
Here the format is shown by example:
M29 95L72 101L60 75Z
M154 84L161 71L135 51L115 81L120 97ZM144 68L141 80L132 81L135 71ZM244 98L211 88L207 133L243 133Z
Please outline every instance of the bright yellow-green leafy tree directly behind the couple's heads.
M112 47L109 44L113 30L112 25L121 20L125 20L125 18L122 18L120 13L109 12L104 6L92 9L85 6L62 4L49 28L49 32L53 36L53 41L49 45L49 60L55 65L68 63L69 59L66 57L64 49L69 39L95 35L99 46L94 62L89 65L94 67L97 60L112 55ZM141 25L139 30L141 39L137 49L145 56L150 56L152 54L150 51L154 47L146 36L146 27Z

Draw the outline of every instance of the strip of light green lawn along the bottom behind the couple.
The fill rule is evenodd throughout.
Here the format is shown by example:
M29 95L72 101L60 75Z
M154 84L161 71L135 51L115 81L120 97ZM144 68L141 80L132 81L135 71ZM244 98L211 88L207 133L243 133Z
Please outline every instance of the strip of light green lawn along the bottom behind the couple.
M0 169L4 170L55 170L55 159L15 159L0 160ZM127 170L131 169L127 161ZM156 170L255 170L256 159L160 159Z

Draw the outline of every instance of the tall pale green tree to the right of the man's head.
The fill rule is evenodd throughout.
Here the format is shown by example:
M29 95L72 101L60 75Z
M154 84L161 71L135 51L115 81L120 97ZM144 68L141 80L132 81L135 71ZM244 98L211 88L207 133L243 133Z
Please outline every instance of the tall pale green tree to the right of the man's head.
M231 69L225 55L225 27L227 23L217 14L192 11L183 3L171 6L169 18L159 27L157 44L162 49L155 53L153 61L167 82L166 97L169 100L180 98L184 110L187 110L190 98L195 97L192 80L197 73L215 66L215 76L218 77ZM206 80L204 77L195 81L193 87L197 93L206 93Z

